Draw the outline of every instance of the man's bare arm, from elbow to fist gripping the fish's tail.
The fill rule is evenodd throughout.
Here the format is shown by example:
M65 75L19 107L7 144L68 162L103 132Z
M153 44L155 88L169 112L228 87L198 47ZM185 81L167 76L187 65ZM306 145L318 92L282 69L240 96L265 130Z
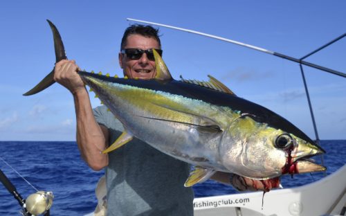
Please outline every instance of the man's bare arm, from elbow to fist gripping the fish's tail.
M78 65L73 60L62 60L55 64L54 80L69 89L75 102L77 120L77 143L82 158L93 170L108 165L108 155L102 154L108 143L109 132L98 125L93 116L89 93L77 73Z

